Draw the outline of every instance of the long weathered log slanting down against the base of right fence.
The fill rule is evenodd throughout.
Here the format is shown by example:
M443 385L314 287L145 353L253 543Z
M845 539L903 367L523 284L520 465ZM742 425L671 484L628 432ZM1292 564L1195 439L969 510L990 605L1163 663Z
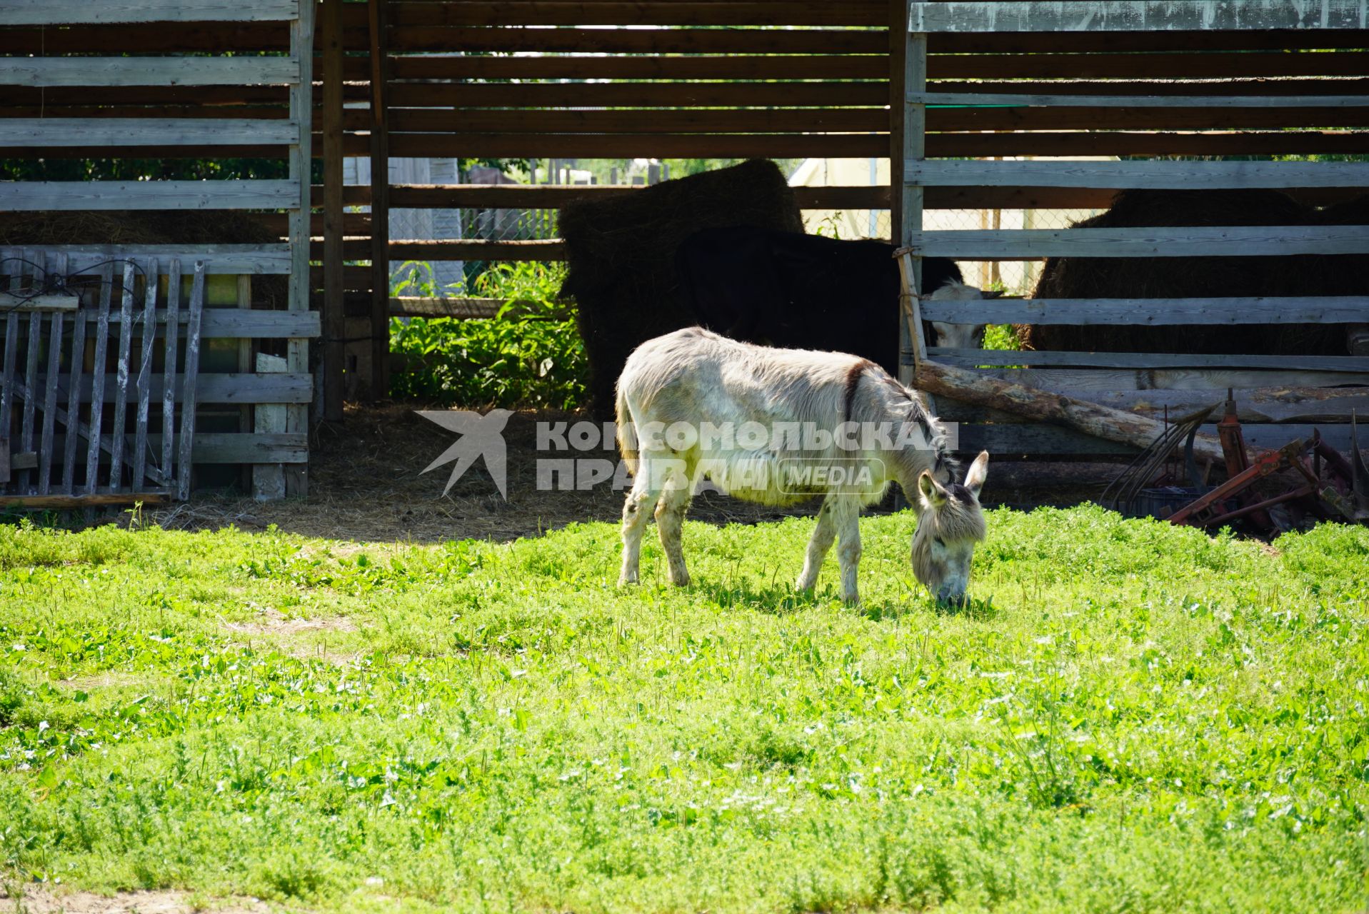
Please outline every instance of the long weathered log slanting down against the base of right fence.
M939 361L924 360L917 364L914 387L976 406L988 406L1036 421L1068 426L1095 438L1136 447L1149 446L1165 431L1162 421L1147 416L1054 394L1038 387L1014 384ZM1221 400L1216 393L1213 398ZM1225 460L1221 453L1221 442L1214 435L1202 434L1194 438L1194 457L1198 460Z

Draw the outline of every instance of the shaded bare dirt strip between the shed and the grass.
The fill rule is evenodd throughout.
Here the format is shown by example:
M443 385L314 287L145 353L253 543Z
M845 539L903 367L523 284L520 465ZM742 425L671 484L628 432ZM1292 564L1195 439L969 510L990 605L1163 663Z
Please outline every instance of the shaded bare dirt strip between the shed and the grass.
M616 461L612 447L587 454L549 454L537 447L539 421L575 423L575 413L520 412L509 417L508 501L497 491L483 461L472 465L442 494L450 464L422 473L456 438L418 416L422 404L375 408L349 406L342 421L314 431L308 498L257 504L240 494L197 494L190 502L145 509L142 523L168 530L219 530L237 525L327 539L437 543L450 539L507 542L538 536L576 521L616 521L623 491L601 483L589 491L542 491L538 460L586 456ZM1118 472L1113 464L1014 464L990 468L984 504L1034 506L1073 505L1097 497ZM886 501L884 508L893 502ZM791 514L812 514L816 504L786 509L741 502L705 493L690 508L691 520L758 523ZM127 523L129 514L120 516ZM340 549L346 549L345 546ZM360 550L357 546L353 551ZM344 556L346 553L334 553Z

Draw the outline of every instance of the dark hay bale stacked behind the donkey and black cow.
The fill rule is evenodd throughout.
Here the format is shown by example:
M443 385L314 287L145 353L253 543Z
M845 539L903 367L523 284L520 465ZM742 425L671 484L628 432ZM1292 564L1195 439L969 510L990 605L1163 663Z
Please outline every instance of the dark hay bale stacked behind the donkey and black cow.
M570 267L561 296L579 305L596 415L612 415L613 383L638 345L695 323L678 301L675 250L701 228L726 226L804 231L775 163L753 159L561 211Z

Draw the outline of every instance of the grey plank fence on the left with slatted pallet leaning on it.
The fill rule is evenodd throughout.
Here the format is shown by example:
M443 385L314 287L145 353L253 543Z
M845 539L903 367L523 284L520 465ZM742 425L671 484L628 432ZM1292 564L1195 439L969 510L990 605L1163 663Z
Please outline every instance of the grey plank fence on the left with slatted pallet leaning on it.
M5 211L283 211L287 239L8 252L0 454L14 458L0 501L183 498L192 467L205 484L242 473L260 498L305 490L319 332L308 311L312 23L309 0L0 0L0 49L40 55L0 57L0 155L222 159L268 144L289 172L0 185ZM200 53L223 49L225 31L281 53ZM55 56L120 51L182 56ZM237 104L263 93L285 104ZM233 116L215 99L230 99ZM266 276L285 278L286 311L253 308Z

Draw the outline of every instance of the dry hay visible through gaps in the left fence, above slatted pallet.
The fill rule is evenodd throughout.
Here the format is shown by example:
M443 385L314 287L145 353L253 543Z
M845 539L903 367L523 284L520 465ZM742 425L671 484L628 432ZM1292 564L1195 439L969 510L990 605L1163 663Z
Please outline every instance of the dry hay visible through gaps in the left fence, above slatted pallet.
M275 245L252 216L219 209L153 212L0 212L0 246L26 245ZM166 264L163 264L163 268ZM186 264L182 264L182 270ZM118 271L115 271L118 274ZM253 300L285 308L285 276L253 276Z

